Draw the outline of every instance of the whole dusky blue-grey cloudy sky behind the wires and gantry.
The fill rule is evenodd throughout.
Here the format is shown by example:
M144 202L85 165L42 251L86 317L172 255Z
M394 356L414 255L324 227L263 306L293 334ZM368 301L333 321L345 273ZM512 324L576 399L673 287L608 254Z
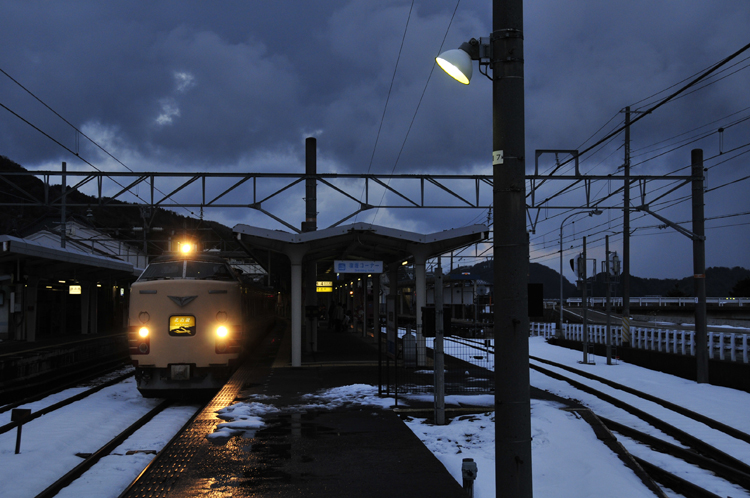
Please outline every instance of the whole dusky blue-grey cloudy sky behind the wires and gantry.
M5 1L0 154L29 169L59 169L62 161L91 168L31 123L109 171L127 170L83 135L133 171L300 173L304 140L313 136L319 172L490 175L491 82L475 68L471 85L459 85L433 72L433 61L441 46L489 36L491 9L489 0ZM596 144L623 123L626 106L641 118L635 111L750 43L748 26L747 0L526 2L527 172L536 149ZM633 175L687 174L690 150L704 149L707 266L750 268L748 57L750 51L740 54L632 127ZM582 156L581 172L618 174L623 143L621 133L595 147ZM540 171L554 160L542 156ZM569 166L559 171L566 172ZM338 185L361 198L361 183ZM645 184L645 202L672 221L689 221L689 187L657 199L674 186ZM620 187L594 183L590 198ZM641 191L633 187L633 205L642 203ZM290 189L264 207L299 226L303 197ZM318 197L319 228L356 207L322 188ZM370 193L371 203L379 198ZM547 198L544 209L531 211L538 219L531 260L557 269L561 222L587 210L585 189L547 182L535 199ZM621 194L602 205L621 206ZM205 216L229 226L284 228L248 209ZM659 228L655 218L632 218L633 274L692 274L688 238ZM486 222L487 212L371 210L355 220L434 232ZM606 234L621 252L621 230L617 209L571 216L566 259L584 235L591 257L602 259Z

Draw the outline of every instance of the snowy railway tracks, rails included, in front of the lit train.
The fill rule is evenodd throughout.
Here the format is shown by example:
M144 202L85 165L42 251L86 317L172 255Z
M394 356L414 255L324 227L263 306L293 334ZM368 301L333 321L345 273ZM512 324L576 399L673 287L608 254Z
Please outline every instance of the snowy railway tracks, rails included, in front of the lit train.
M125 474L141 472L148 464L147 460L151 459L146 455L156 454L168 445L166 441L173 439L175 432L179 434L201 408L198 404L175 406L172 401L165 400L154 405L159 400L143 399L135 389L132 376L132 370L120 372L119 375L111 374L95 380L96 385L90 388L74 390L72 395L66 395L68 393L63 391L46 398L33 396L0 407L0 414L4 413L6 420L10 419L7 412L13 408L33 409L30 417L23 421L21 455L15 458L11 455L6 463L16 467L14 475L20 474L24 480L31 478L37 481L32 484L24 482L18 488L21 481L13 484L3 479L0 482L0 495L48 498L64 490L61 493L64 496L98 496L101 489L106 489L106 495L114 496L125 488L129 480L110 483L108 468L115 465L120 474L123 473L121 467L128 469ZM154 420L161 413L164 415ZM2 447L10 447L11 452L15 434L4 433L18 425L18 422L10 422L0 426L0 435L5 441ZM69 433L76 436L71 438ZM129 439L131 436L134 437ZM103 467L96 466L126 440L128 442L124 449L114 453L121 455L115 457L117 460L109 460ZM27 463L20 467L14 463L24 456ZM127 461L121 462L120 458ZM54 463L48 465L48 460ZM33 474L26 472L29 464L37 467ZM82 476L83 479L71 489L65 489ZM97 479L104 484L89 489L88 482ZM46 488L42 489L44 486ZM79 492L81 489L83 494ZM89 492L92 494L87 494Z

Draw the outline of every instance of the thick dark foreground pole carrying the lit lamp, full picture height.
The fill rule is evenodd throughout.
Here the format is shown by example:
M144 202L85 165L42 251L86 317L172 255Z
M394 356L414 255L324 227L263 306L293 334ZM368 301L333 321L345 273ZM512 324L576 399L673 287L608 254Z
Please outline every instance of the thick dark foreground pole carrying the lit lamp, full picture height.
M523 0L493 0L490 48L496 283L495 492L498 497L531 498Z

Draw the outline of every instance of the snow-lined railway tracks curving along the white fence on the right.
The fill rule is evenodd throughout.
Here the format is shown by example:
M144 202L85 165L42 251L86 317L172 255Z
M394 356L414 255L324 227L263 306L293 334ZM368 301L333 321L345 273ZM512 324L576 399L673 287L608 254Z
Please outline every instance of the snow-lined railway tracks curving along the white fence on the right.
M484 342L464 338L449 340L494 353L494 348ZM595 397L598 401L596 409L592 410L611 432L619 435L618 439L639 465L662 486L687 498L750 496L750 465L746 463L750 462L749 434L589 372L534 356L530 357L529 364L534 371ZM584 401L584 404L587 403ZM611 408L602 410L600 406ZM601 411L617 415L607 417ZM684 464L676 462L696 469L695 475L692 471L687 475L670 472L670 468L684 468ZM707 488L725 491L719 495Z

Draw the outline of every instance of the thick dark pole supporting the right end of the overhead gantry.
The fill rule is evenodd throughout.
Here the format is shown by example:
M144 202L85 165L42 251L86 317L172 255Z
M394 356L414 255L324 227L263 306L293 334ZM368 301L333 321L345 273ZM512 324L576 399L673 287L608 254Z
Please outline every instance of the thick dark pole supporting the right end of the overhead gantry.
M703 213L703 149L690 151L693 175L693 289L695 290L696 381L708 382L706 320L706 237Z

